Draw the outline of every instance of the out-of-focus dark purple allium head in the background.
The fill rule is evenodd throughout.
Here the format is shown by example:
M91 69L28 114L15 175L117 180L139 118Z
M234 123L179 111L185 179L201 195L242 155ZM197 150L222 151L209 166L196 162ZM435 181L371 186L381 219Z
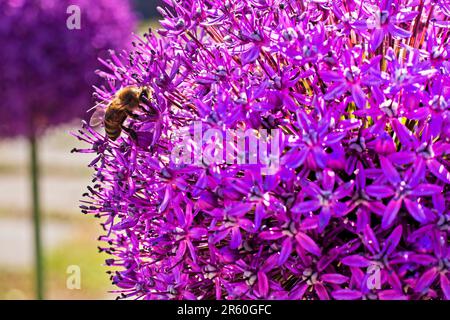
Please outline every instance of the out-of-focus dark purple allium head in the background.
M80 8L69 30L68 7ZM0 2L0 135L41 134L85 115L97 57L130 41L135 18L123 0Z

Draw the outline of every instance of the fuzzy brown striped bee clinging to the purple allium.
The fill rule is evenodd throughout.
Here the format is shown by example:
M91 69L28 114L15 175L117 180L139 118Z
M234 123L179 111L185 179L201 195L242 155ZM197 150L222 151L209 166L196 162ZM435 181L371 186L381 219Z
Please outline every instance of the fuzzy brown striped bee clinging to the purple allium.
M106 135L113 141L117 140L122 130L133 136L133 130L125 127L123 123L128 117L139 118L133 112L139 109L141 102L148 101L149 94L148 87L128 86L118 90L106 108L96 107L90 125L96 127L103 123Z

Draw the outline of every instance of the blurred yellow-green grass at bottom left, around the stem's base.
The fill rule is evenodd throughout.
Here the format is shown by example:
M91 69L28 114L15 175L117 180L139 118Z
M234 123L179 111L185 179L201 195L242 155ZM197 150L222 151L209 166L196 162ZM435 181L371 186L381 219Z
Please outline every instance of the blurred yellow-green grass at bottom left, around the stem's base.
M46 299L112 299L107 268L103 266L106 255L99 254L95 240L100 234L98 220L83 217L74 220L76 232L70 241L61 243L51 252L45 252L45 298ZM68 289L70 274L67 268L79 266L81 288ZM33 273L27 269L0 269L0 299L34 299Z

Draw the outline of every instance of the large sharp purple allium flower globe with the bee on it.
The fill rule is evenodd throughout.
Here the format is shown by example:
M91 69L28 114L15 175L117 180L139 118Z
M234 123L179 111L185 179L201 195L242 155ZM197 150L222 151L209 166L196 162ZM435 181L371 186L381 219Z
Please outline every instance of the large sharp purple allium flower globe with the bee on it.
M150 89L129 130L78 134L119 297L450 299L448 2L166 3L97 90Z

